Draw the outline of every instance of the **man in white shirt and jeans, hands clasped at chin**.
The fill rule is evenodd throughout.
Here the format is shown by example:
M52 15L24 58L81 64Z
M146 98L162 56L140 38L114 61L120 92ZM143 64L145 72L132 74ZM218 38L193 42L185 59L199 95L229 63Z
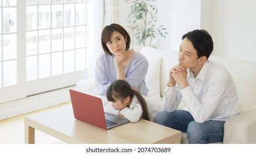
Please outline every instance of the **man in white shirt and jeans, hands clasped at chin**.
M234 81L220 64L208 60L213 40L206 30L182 36L178 65L169 71L163 94L165 111L154 122L187 132L188 143L223 141L224 122L239 113ZM181 104L186 106L178 110Z

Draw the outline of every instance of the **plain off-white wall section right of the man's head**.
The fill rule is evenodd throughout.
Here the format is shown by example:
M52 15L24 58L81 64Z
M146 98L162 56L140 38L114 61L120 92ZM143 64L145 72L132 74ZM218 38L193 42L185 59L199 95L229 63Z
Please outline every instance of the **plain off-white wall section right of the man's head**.
M213 55L256 62L256 1L213 1Z

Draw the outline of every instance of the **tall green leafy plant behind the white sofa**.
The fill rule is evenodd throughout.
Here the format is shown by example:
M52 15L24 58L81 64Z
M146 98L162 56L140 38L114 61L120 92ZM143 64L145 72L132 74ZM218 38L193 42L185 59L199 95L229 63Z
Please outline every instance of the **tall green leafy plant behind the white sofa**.
M130 0L124 0L125 2ZM157 8L153 4L155 0L133 0L131 12L127 17L129 33L133 43L139 46L151 46L160 48L158 37L166 38L168 34L163 25L156 27Z

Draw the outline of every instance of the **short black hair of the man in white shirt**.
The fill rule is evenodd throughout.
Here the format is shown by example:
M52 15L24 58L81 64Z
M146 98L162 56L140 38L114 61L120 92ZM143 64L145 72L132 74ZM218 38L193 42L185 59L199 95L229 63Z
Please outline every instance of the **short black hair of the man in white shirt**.
M213 40L207 30L193 30L182 36L182 40L185 38L192 42L194 49L197 51L198 58L202 56L206 56L207 59L209 58L213 51Z

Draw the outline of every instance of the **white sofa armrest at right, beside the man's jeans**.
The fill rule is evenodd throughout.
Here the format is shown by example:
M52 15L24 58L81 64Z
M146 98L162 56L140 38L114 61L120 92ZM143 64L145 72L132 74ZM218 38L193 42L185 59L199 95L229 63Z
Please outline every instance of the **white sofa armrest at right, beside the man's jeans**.
M225 122L223 143L256 143L256 106Z

